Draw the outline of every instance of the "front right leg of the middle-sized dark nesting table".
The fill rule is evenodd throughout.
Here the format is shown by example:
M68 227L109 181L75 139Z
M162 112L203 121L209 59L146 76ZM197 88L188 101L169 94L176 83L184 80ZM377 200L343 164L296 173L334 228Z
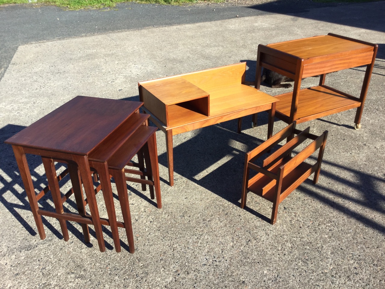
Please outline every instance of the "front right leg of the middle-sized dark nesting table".
M121 245L119 240L118 226L116 222L115 205L114 198L112 197L111 179L108 165L107 163L101 163L97 161L90 161L90 165L96 169L99 175L105 207L107 209L108 220L111 227L112 239L114 239L116 252L120 252Z

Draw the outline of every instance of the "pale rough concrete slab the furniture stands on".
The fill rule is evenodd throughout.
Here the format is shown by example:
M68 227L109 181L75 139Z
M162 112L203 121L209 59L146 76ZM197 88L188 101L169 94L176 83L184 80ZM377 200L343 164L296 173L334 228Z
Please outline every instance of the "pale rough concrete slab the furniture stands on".
M0 288L384 288L384 10L385 2L372 2L18 47L0 81ZM126 249L116 253L105 228L101 253L94 236L84 243L77 223L68 223L64 242L52 218L40 240L5 139L77 95L137 100L138 81L239 61L247 61L252 80L258 44L328 32L379 44L362 129L353 129L354 110L299 125L329 131L321 176L286 198L274 226L263 199L250 194L247 210L239 208L244 153L266 139L260 114L255 129L244 118L242 134L229 121L175 136L174 187L157 132L163 208L130 184L135 254L127 252L124 230ZM357 95L362 79L358 67L326 82ZM277 120L274 131L285 126ZM41 160L28 161L39 190L46 184ZM53 210L50 198L40 205Z

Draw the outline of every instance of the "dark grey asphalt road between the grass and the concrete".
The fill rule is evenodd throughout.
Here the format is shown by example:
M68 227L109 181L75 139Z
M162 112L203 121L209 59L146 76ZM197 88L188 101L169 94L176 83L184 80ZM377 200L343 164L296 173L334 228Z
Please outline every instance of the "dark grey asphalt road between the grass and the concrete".
M301 5L293 5L300 2ZM296 3L298 4L298 3ZM209 22L269 13L297 13L330 4L304 0L277 0L254 6L210 4L169 6L122 3L111 9L66 11L55 6L0 6L0 80L20 45L139 30L179 24Z

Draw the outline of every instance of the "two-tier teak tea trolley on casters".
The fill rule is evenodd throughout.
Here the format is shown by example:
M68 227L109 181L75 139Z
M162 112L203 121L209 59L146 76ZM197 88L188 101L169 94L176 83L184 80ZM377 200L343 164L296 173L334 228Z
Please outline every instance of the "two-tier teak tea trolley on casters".
M355 129L361 127L365 98L377 53L372 44L340 35L315 36L268 45L258 45L255 87L261 83L261 68L294 79L293 92L275 96L280 101L276 117L286 123L303 123L357 108ZM327 73L367 66L360 97L325 85ZM301 89L301 79L321 75L319 86Z

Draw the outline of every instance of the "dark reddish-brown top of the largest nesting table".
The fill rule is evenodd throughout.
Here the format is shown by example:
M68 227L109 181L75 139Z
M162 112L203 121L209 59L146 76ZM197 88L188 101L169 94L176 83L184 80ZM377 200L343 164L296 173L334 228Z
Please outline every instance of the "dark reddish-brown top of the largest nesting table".
M142 104L77 96L7 139L6 143L88 155Z

